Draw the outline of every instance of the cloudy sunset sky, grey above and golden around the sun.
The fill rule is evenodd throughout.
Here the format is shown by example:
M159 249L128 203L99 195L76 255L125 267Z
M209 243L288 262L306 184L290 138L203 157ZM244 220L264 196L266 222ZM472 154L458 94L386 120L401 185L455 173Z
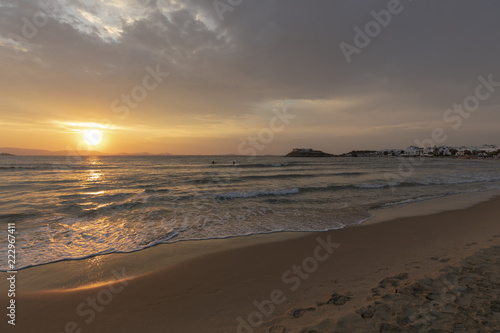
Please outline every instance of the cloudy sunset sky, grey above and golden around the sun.
M0 0L0 147L500 145L499 40L495 0Z

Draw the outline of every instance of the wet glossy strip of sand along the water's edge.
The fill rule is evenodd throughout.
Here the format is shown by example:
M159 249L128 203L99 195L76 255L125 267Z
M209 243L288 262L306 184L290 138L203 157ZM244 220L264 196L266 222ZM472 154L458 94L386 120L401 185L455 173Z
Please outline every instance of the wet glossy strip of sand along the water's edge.
M472 197L471 194L473 195ZM129 274L132 276L139 276L169 268L185 261L203 257L207 254L230 251L252 245L302 238L313 234L322 234L346 228L357 228L371 224L385 223L406 217L424 217L461 208L469 208L479 203L487 202L497 196L500 197L500 190L453 194L444 197L375 208L370 210L372 217L359 224L348 225L339 229L324 231L273 231L269 233L237 235L224 238L181 240L172 243L155 244L132 252L111 252L90 255L78 259L61 259L44 264L28 266L19 269L18 272L20 276L27 275L24 290L28 292L75 289L109 282L109 276L106 277L100 269L102 265L109 267L125 266L127 267L127 271L130 272ZM168 257L170 260L166 262L164 260L165 257ZM82 262L86 264L82 265ZM97 273L86 274L82 272L81 266L85 266L85 271L97 270ZM67 269L73 272L73 274L52 276L51 272L58 269ZM26 273L28 271L30 273ZM31 273L32 271L33 273ZM7 272L0 271L0 275L1 274L7 274ZM44 278L33 279L31 278L32 276L41 276ZM22 278L24 279L24 276ZM0 280L0 288L4 288L3 280Z

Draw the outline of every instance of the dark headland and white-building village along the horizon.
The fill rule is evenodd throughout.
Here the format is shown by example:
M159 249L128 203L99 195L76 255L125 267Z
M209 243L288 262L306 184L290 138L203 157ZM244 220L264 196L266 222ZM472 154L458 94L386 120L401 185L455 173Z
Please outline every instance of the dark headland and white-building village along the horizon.
M295 148L287 157L456 157L465 159L475 158L500 158L500 146L485 144L481 147L475 146L435 146L417 147L409 146L405 149L383 149L383 150L353 150L349 153L335 155L314 150L311 148Z

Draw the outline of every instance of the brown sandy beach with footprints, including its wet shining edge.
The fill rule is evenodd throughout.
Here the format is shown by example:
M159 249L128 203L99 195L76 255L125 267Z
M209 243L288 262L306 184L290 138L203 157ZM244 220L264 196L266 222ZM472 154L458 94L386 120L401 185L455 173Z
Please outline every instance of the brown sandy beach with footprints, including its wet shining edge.
M28 268L1 331L498 332L499 204Z

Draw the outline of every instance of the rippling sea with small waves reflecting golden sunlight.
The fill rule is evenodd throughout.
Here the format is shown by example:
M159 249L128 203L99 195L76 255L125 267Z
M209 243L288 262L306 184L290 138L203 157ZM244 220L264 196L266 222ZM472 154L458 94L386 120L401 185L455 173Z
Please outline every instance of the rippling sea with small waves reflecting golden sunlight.
M374 208L500 189L498 160L418 163L409 171L398 158L2 156L0 248L7 223L16 224L21 269L182 240L338 229Z

